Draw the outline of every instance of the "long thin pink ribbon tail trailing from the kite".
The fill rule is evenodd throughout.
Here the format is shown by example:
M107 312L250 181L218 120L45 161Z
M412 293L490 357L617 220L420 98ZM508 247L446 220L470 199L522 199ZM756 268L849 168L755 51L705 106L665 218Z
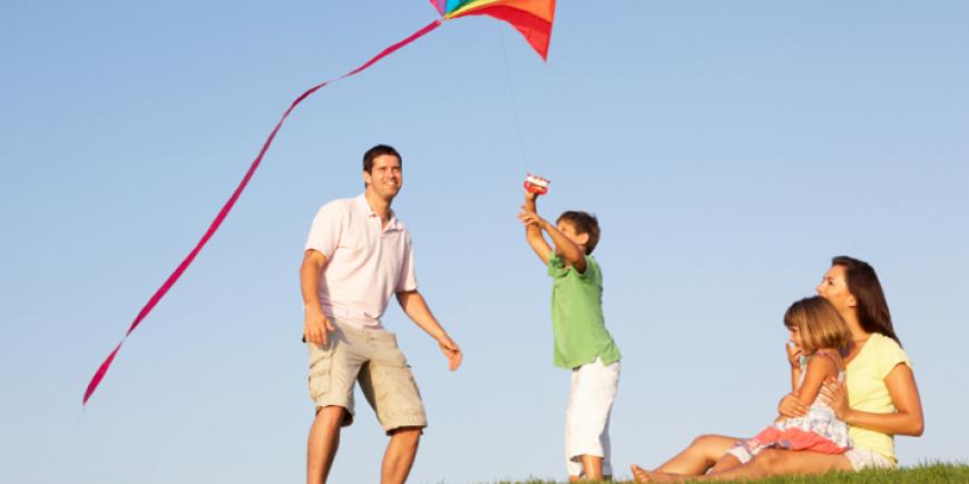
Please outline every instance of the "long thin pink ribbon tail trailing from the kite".
M108 373L108 368L111 367L111 363L115 360L115 356L118 355L118 350L121 349L121 345L125 343L125 340L128 338L128 336L135 330L135 328L138 327L139 324L141 324L141 320L145 319L146 316L148 316L148 313L151 313L151 309L155 308L155 305L158 304L158 302L161 300L163 297L165 297L165 294L168 293L168 289L170 289L172 286L174 286L175 283L178 280L178 278L182 277L182 274L185 273L185 269L187 269L188 266L192 265L192 261L195 260L195 257L198 255L198 253L202 250L202 248L205 247L205 245L208 243L208 239L211 239L212 236L215 235L215 231L218 230L218 227L225 220L225 217L228 216L228 213L232 211L232 208L235 206L236 200L238 200L238 197L242 195L243 190L245 190L246 185L248 185L253 175L256 172L256 168L258 168L260 164L263 161L263 157L266 155L266 151L270 149L270 146L273 144L273 139L276 137L276 134L280 132L280 128L282 128L283 121L285 121L287 117L290 117L290 113L293 112L293 109L295 109L296 106L298 106L301 102L303 102L304 99L310 97L310 95L320 90L320 88L322 88L331 82L335 82L337 80L353 76L353 75L369 68L370 66L373 66L379 60L383 59L386 56L390 56L391 53L393 53L398 49L407 46L408 43L413 42L418 38L430 32L431 30L437 29L440 24L441 24L440 19L434 20L431 23L428 23L427 26L424 26L423 28L421 28L417 32L412 33L407 39L401 40L400 42L397 42L393 46L388 47L386 49L383 49L380 53L378 53L372 59L366 61L364 65L358 67L356 69L353 69L352 71L346 72L345 75L340 76L336 79L331 79L331 80L327 80L325 82L321 82L316 86L313 86L312 88L307 89L306 92L303 92L302 95L300 95L300 97L296 98L292 105L290 105L290 108L286 109L285 112L283 112L283 117L280 118L278 122L276 122L276 127L273 128L272 132L270 132L270 137L266 138L266 142L263 144L263 149L260 150L260 155L256 156L255 160L253 160L253 164L249 166L249 169L246 171L242 181L239 181L235 191L233 191L232 197L229 197L228 201L226 201L225 205L223 205L222 209L218 210L218 215L215 216L215 220L213 220L212 224L209 224L208 229L205 230L205 235L202 236L202 239L198 240L198 243L195 245L195 248L193 248L192 251L188 253L188 256L186 256L185 259L182 260L182 264L179 264L178 267L175 268L175 270L172 273L172 275L168 276L167 279L165 279L164 284L161 284L161 287L159 287L158 290L155 292L155 294L151 296L151 298L148 299L148 303L146 303L145 306L141 308L141 310L138 312L138 316L135 317L134 322L131 322L131 326L128 328L128 332L125 333L125 337L121 338L121 340L118 343L118 346L115 347L115 349L108 355L108 357L105 358L105 362L101 363L101 366L98 367L98 371L95 373L95 376L91 378L91 382L88 383L88 387L85 391L85 396L84 396L84 399L81 401L81 405L86 405L88 403L88 399L91 397L91 395L98 388L98 385L101 383L101 379L105 378L105 374Z

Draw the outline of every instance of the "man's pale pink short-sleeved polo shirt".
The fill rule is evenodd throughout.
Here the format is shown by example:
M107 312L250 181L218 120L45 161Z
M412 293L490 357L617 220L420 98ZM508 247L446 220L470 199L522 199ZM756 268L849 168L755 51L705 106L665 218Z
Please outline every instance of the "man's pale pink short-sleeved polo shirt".
M320 278L323 313L360 329L380 323L394 293L417 290L411 235L393 210L386 227L361 195L333 200L316 213L306 250L326 256Z

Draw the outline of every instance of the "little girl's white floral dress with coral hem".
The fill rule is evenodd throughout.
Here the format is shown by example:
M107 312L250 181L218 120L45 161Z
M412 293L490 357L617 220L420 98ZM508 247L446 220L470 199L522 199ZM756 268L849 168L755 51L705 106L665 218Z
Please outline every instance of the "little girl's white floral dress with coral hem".
M824 352L818 352L815 356L833 359ZM810 357L802 358L799 388L804 384L809 360ZM838 372L838 381L844 381L843 368ZM834 411L821 398L814 398L806 415L777 421L754 437L737 442L728 453L742 463L747 463L765 448L842 454L851 448L851 438L848 436L848 424L838 418Z

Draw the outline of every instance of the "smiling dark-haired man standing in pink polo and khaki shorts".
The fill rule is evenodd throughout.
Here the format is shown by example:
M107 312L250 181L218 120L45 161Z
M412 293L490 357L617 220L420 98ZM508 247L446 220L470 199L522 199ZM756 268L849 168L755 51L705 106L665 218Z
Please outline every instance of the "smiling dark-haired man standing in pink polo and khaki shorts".
M381 482L402 483L410 473L428 423L407 358L380 322L391 295L438 342L450 369L461 365L461 349L418 292L410 233L390 208L403 182L400 154L385 145L368 150L363 181L363 195L331 201L316 214L300 268L316 403L306 444L309 484L326 481L340 427L353 422L356 381L390 435Z

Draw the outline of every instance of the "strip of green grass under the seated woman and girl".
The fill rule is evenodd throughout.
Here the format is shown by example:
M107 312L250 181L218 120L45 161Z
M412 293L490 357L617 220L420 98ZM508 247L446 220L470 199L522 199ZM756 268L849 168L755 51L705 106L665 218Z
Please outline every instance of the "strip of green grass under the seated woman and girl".
M870 470L862 472L834 472L813 476L770 477L743 482L758 484L969 484L969 465L934 463L920 464L914 467L903 467L895 471ZM498 481L498 484L513 483L557 484L556 481L544 481L538 478L529 478L526 481ZM632 483L632 481L623 481L623 483ZM618 484L618 482L611 484Z

